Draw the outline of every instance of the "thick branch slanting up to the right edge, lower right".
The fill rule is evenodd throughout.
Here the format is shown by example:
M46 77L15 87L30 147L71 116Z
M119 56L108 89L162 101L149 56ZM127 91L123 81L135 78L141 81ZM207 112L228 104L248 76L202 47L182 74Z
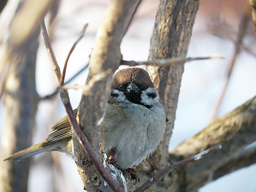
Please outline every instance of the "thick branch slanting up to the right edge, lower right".
M249 100L231 113L214 120L212 124L200 131L193 138L180 144L172 154L184 157L196 154L202 148L208 148L216 142L224 144L222 150L214 153L211 157L205 157L200 163L191 163L184 166L183 173L180 173L180 186L185 191L191 191L204 186L207 182L218 179L225 173L242 167L235 164L246 156L252 157L251 152L244 151L244 148L255 141L256 132L256 97ZM244 159L245 160L245 159ZM245 164L255 163L256 160L248 159ZM227 167L232 164L234 167ZM244 166L245 166L244 164ZM225 170L227 168L227 170Z

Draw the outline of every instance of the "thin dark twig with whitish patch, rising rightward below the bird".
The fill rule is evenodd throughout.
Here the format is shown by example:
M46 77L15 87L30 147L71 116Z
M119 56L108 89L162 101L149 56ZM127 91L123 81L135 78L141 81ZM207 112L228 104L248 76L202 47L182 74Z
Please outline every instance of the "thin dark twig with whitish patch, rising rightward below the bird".
M211 152L214 152L221 148L223 146L222 143L219 143L218 145L215 145L214 147L208 148L207 150L204 150L203 152L200 152L199 154L196 154L195 156L188 157L187 159L183 159L181 161L178 161L177 163L169 163L167 164L163 170L160 172L156 173L153 177L151 177L147 182L145 182L143 185L141 185L139 188L135 189L134 192L142 192L145 191L146 189L150 188L154 183L156 183L158 180L162 179L164 175L167 173L173 172L176 168L179 166L182 166L184 164L187 164L192 161L197 161L199 159L202 159L202 157L207 156Z

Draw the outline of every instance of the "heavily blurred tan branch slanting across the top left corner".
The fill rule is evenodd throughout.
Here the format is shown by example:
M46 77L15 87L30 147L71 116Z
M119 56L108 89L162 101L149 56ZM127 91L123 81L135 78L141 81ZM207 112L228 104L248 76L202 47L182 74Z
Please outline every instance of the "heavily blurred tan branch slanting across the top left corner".
M20 8L10 24L8 41L3 45L5 53L0 56L0 86L3 87L6 78L6 65L16 51L26 49L31 33L35 31L38 20L44 17L52 0L27 0L22 1ZM1 90L3 92L3 88ZM1 96L1 95L0 95Z

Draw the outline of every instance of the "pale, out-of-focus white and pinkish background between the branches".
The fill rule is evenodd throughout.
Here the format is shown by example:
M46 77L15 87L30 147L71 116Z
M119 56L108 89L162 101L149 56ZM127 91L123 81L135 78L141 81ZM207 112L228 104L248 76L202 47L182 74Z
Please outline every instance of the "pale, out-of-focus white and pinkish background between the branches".
M9 0L0 15L1 41L8 36L8 24L19 1ZM85 36L70 57L66 79L86 66L95 44L97 29L102 23L109 0L62 0L54 22L49 28L52 46L60 67L77 36L88 23ZM159 1L143 0L121 45L124 60L145 61ZM248 5L248 4L247 4ZM256 95L256 36L252 19L244 27L241 51L236 52L239 26L244 19L246 0L201 0L189 45L188 57L223 56L224 60L186 63L180 88L175 127L170 151L218 118L234 110ZM49 17L46 18L46 21ZM236 60L232 63L232 58ZM141 66L143 67L143 66ZM83 85L88 71L84 70L70 84ZM228 76L230 74L230 76ZM65 116L58 95L45 99L56 90L56 78L40 36L36 64L36 90L42 100L36 114L33 143L44 140L61 117ZM72 107L81 100L81 90L70 90ZM221 95L223 95L222 99ZM0 136L4 129L4 104L0 103ZM0 154L1 156L1 154ZM1 157L3 159L3 157ZM1 171L1 170L0 170ZM179 169L177 170L179 172ZM248 166L221 177L200 188L206 191L256 191L256 165ZM28 191L83 191L83 183L72 159L60 152L33 157Z

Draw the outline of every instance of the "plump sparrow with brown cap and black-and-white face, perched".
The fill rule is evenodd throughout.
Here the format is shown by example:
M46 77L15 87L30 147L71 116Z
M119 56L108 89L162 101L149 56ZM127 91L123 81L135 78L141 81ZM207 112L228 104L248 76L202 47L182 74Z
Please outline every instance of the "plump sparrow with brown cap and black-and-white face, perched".
M77 115L78 109L74 110ZM130 67L116 72L111 84L102 124L102 152L123 169L138 166L159 145L166 127L166 116L148 72ZM52 127L52 133L36 145L4 159L24 159L41 152L57 150L72 154L72 127L64 116Z

